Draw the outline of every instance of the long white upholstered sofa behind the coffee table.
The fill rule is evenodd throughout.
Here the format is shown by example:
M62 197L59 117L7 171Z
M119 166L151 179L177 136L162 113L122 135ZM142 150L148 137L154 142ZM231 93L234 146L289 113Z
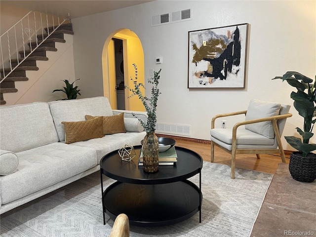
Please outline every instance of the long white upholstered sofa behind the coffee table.
M62 121L121 112L126 132L65 143ZM132 113L147 119L112 110L106 97L0 107L0 213L98 171L100 159L125 144L140 145L146 132Z

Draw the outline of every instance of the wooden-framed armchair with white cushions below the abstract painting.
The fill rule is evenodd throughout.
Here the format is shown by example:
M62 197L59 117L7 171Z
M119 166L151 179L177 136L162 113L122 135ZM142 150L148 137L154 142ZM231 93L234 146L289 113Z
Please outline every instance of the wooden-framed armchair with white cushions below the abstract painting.
M232 179L235 179L236 154L256 154L260 158L259 154L278 153L285 162L280 137L286 118L292 116L289 110L290 105L252 99L247 110L214 116L211 120L211 162L214 162L215 145L231 154ZM237 122L233 128L215 128L216 118L242 114L245 120Z

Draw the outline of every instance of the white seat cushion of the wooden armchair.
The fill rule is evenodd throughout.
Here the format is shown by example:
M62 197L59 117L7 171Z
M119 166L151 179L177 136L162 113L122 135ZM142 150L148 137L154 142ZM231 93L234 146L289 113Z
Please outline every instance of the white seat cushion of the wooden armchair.
M211 140L216 138L227 144L232 144L233 128L214 128L211 129ZM274 145L275 139L268 138L261 134L252 132L248 129L238 128L236 135L237 145Z

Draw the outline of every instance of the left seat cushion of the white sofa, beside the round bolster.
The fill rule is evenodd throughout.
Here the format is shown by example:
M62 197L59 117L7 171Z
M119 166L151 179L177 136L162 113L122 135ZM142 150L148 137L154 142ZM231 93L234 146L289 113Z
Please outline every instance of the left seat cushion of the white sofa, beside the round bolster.
M17 170L10 175L0 176L2 204L50 187L99 164L94 149L62 142L16 155L19 158Z

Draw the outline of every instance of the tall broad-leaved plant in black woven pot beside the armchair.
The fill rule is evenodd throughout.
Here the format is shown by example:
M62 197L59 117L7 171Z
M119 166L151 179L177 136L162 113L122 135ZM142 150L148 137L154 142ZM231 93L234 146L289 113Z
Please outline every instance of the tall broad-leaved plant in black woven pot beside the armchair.
M286 141L296 150L290 156L289 170L293 179L300 182L313 182L316 179L316 144L310 144L310 138L316 119L316 82L298 72L287 72L282 77L274 79L286 80L291 86L296 87L297 92L292 91L294 108L304 118L303 130L296 127L301 138L285 136ZM315 76L316 79L316 76Z

